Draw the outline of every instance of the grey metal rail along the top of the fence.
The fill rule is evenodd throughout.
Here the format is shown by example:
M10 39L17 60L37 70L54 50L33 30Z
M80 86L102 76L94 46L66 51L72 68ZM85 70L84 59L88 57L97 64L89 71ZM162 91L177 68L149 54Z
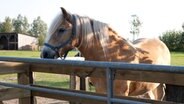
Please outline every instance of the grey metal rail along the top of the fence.
M73 60L54 60L54 59L36 59L36 58L16 58L16 57L0 57L0 61L9 62L25 62L35 64L52 64L52 65L71 65L93 68L111 68L119 70L131 71L156 71L166 73L184 74L183 66L170 65L153 65L153 64L130 64L124 62L103 62L103 61L73 61Z

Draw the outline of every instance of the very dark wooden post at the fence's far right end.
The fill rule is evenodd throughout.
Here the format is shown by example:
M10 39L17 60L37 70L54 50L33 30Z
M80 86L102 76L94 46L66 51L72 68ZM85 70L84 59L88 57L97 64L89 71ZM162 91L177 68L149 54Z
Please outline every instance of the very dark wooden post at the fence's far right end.
M184 103L184 86L166 84L166 101Z

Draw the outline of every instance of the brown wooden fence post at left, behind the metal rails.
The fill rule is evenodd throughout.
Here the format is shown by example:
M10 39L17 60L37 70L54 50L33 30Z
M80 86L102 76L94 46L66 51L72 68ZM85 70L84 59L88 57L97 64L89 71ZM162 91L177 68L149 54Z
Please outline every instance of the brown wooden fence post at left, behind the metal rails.
M25 73L18 73L18 84L31 85L33 84L33 75L30 66L26 66ZM30 91L30 97L19 98L19 104L34 104L34 98Z

